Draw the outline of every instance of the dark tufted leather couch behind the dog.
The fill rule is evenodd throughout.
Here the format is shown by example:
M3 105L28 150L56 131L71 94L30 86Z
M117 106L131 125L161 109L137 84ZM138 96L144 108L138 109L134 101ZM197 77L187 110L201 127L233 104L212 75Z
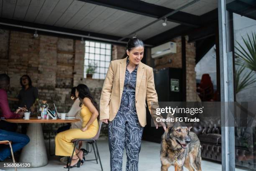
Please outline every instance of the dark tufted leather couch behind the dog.
M256 151L255 148L248 148L241 145L241 140L238 138L238 129L246 129L248 132L253 133L255 128L241 128L235 127L235 145L236 145L236 166L246 167L255 170L256 169ZM192 128L192 131L197 134L201 143L201 156L204 159L221 162L221 127L209 126L202 127L196 126ZM252 141L251 141L252 140ZM251 138L248 144L253 145L253 138Z

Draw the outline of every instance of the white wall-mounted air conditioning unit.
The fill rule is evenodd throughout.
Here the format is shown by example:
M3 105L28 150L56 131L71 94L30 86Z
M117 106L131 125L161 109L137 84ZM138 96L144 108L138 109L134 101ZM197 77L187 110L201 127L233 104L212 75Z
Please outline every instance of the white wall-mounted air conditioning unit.
M151 57L159 58L167 54L176 54L176 51L176 43L169 41L167 43L151 48Z

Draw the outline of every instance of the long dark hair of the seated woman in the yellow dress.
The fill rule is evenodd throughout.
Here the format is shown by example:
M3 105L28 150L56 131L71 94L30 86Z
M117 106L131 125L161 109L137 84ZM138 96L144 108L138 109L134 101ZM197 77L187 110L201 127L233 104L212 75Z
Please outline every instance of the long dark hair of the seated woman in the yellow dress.
M79 84L76 89L78 91L78 98L80 100L80 107L83 104L84 98L88 97L91 100L92 104L95 106L95 108L98 110L97 103L95 102L94 98L92 97L92 94L90 93L90 90L87 87L87 85Z

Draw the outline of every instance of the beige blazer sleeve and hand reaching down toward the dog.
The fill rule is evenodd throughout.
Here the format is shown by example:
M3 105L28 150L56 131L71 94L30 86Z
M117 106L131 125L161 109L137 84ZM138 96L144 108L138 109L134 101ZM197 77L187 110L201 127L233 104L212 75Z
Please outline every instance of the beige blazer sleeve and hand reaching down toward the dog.
M151 114L154 124L156 125L157 123L159 123L156 121L156 118L157 117L162 118L162 116L156 115L156 108L159 107L159 104L158 104L158 96L157 96L156 89L155 89L153 68L151 68L149 76L148 76L146 100L148 103L148 110Z

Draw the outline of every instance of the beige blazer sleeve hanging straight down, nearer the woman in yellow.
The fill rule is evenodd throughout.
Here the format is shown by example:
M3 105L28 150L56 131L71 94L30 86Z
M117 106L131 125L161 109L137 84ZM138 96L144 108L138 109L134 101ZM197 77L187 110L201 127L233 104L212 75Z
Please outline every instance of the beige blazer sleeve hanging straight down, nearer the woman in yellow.
M113 61L111 61L100 96L100 120L109 119L109 101L112 92L113 79L114 66Z

